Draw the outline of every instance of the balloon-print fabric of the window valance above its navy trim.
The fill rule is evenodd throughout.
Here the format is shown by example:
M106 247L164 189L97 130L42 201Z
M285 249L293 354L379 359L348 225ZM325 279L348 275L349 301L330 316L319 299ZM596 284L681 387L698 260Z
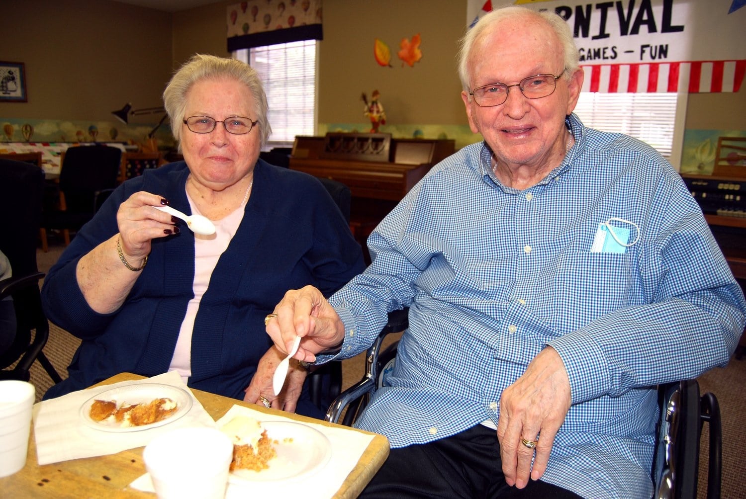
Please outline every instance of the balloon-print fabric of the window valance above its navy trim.
M322 23L322 0L253 0L226 7L228 39Z

